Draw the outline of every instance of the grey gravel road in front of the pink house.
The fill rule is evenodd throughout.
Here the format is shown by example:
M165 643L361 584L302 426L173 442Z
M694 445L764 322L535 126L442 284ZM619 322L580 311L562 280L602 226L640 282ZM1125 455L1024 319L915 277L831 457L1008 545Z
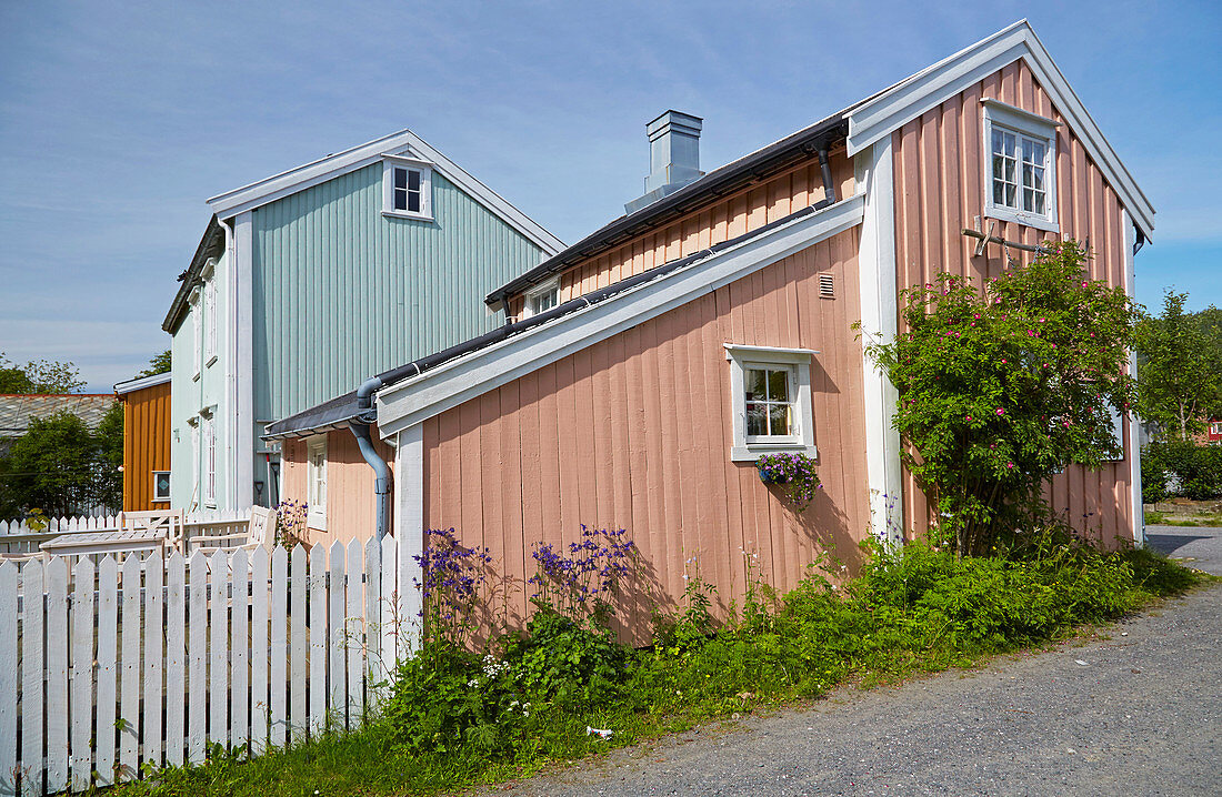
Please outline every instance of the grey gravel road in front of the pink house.
M1222 575L1222 528L1151 544ZM1105 636L704 727L516 795L1222 795L1222 587Z

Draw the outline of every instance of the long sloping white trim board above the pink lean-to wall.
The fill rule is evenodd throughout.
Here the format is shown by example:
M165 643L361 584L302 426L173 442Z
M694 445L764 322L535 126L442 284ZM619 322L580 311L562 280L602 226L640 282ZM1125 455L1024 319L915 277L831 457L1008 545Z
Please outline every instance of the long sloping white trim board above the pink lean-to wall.
M670 275L624 290L606 301L392 384L378 394L378 428L382 437L393 436L599 341L693 301L860 225L864 207L865 200L860 194L841 200Z

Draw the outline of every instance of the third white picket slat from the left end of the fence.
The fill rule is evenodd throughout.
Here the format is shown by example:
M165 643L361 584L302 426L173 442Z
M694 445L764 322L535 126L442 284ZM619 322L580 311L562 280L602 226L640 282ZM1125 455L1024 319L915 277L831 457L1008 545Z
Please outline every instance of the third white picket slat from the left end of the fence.
M46 791L68 786L68 565L46 564Z

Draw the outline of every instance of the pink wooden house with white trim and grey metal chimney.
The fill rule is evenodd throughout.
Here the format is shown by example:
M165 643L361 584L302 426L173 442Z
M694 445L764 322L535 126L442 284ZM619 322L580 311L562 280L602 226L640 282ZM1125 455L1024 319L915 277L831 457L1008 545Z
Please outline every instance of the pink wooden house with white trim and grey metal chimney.
M418 546L455 527L521 579L534 543L622 527L664 599L692 557L725 603L744 553L787 590L820 552L852 565L865 536L929 520L854 321L891 334L903 287L996 276L1046 238L1089 240L1092 277L1132 295L1154 228L1025 21L708 173L699 118L670 111L648 132L645 195L489 295L506 326L270 427L285 494L323 503L324 538L380 524ZM789 419L777 428L747 420L761 372ZM1135 431L1122 419L1122 459L1050 486L1106 544L1141 539ZM758 476L778 450L818 460L824 489L800 515Z

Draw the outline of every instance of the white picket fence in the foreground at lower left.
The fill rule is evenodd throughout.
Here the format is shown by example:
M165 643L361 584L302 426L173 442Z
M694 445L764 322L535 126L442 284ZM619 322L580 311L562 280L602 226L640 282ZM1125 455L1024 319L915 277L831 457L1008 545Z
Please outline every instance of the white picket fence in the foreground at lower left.
M353 729L413 643L398 550L0 563L0 795Z

